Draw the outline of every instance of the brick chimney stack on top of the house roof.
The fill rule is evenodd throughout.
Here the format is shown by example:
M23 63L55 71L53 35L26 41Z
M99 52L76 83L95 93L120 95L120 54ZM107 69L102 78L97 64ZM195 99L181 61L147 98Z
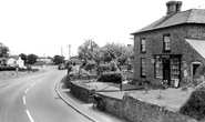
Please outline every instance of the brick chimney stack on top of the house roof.
M168 1L166 2L167 11L166 14L171 16L176 12L181 12L182 1Z

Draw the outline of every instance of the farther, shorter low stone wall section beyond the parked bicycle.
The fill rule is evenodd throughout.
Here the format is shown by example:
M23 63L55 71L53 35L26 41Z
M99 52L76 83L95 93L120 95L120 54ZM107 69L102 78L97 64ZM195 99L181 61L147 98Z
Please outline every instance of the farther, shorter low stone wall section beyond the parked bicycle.
M86 102L92 103L94 101L93 95L95 90L83 87L82 83L78 81L70 81L70 91L75 98Z

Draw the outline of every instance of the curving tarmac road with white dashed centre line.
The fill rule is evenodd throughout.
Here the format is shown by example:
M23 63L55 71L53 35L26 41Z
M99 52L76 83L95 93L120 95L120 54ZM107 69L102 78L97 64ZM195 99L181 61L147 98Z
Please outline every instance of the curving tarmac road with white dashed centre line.
M91 122L66 105L55 84L65 70L45 71L0 81L0 122Z

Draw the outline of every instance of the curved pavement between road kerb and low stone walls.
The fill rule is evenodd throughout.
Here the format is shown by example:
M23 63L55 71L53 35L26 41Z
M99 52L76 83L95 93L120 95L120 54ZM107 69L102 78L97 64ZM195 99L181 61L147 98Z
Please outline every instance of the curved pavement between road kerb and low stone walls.
M65 78L64 78L65 79ZM98 109L92 108L92 103L85 103L76 98L74 98L70 93L70 89L68 89L64 83L58 82L57 92L59 96L75 111L91 120L92 122L129 122L122 118L113 115L111 113L100 111Z

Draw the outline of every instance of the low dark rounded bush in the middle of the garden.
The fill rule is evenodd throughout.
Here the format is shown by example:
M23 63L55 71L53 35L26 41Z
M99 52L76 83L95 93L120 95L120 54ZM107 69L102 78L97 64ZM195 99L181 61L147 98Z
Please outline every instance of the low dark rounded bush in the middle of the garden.
M120 72L102 73L99 77L98 81L100 81L100 82L122 83L122 74Z

